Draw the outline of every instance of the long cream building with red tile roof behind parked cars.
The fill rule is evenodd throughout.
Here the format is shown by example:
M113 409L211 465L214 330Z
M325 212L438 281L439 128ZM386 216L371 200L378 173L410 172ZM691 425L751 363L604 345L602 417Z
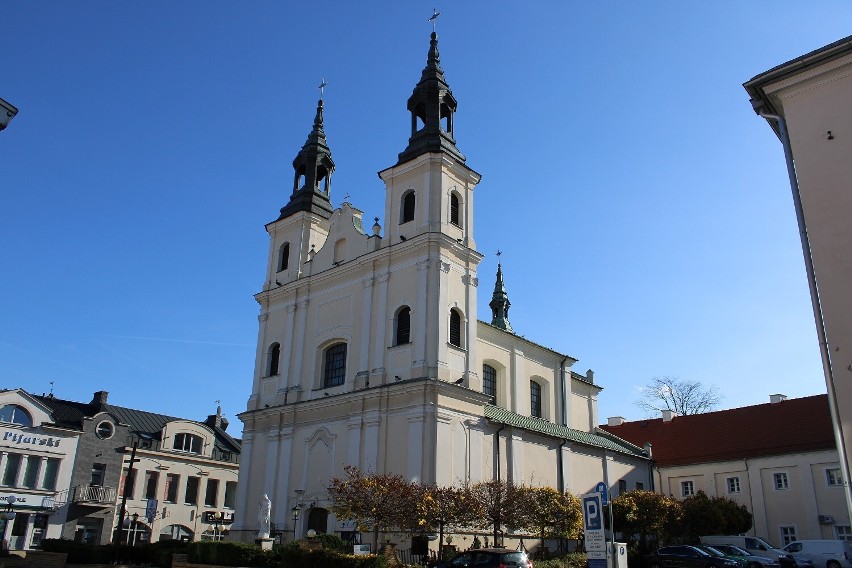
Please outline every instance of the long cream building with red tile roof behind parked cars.
M678 499L703 491L744 505L749 535L775 546L794 540L852 540L826 395L627 422L602 428L651 444L654 485Z

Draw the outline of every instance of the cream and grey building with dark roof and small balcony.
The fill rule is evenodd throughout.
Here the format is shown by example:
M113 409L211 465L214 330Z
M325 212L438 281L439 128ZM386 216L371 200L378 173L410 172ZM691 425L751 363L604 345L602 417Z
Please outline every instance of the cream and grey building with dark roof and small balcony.
M114 535L131 544L221 539L233 520L240 455L221 409L197 422L112 405L108 394L88 403L31 397L79 439L55 496L61 530L51 535L92 544Z

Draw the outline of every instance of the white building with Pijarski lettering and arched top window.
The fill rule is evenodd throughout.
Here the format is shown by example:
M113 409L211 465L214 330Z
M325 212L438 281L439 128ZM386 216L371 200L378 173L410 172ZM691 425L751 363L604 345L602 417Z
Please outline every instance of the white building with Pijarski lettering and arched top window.
M15 550L59 538L80 432L56 424L53 409L21 389L0 391L0 539Z

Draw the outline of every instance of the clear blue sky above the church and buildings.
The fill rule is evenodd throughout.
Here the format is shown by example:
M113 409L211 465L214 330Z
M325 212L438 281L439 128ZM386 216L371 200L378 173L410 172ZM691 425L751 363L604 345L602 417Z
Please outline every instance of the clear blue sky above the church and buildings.
M0 386L235 432L264 224L324 77L346 194L409 134L424 2L4 2ZM600 418L657 376L721 408L825 392L782 149L747 79L849 34L852 4L437 6L476 190L479 317L500 249L517 333L591 368ZM380 222L384 222L380 219Z

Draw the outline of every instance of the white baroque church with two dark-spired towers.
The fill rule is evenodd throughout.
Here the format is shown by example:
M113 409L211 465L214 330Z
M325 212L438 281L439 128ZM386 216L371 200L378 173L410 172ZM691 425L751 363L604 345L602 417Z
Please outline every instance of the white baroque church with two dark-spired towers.
M327 489L346 465L438 485L652 489L647 450L597 428L592 372L513 332L499 266L496 281L482 279L492 318L476 319L480 174L456 147L457 103L434 32L407 106L408 145L379 172L384 231L378 219L365 228L349 203L331 205L322 100L289 202L266 225L252 394L240 414L232 535L242 540L255 538L264 494L287 538L351 536Z

